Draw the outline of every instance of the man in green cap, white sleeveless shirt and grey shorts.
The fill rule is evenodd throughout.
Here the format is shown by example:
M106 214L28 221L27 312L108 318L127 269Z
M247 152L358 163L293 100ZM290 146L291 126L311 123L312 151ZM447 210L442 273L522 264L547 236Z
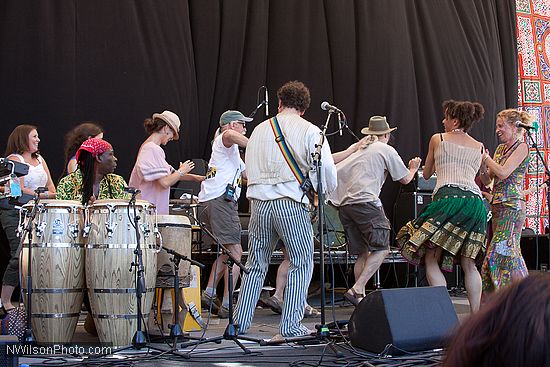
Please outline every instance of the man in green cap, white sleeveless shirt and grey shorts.
M237 200L241 193L241 183L245 175L245 165L239 153L239 147L245 148L248 138L245 136L246 123L252 121L239 111L225 111L220 117L219 134L212 142L212 155L208 162L206 179L201 184L199 203L204 207L201 221L208 227L236 259L241 258L241 222L239 220ZM229 287L225 276L223 301L221 307L216 302L216 287L222 274L227 273L225 262L227 255L219 255L208 277L202 303L212 304L219 318L229 316ZM234 282L239 278L239 267L233 266Z

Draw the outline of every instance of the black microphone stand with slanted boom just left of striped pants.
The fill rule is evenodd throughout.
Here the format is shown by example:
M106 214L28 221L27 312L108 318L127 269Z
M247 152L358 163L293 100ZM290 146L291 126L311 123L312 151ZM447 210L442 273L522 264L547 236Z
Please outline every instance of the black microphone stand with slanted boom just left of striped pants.
M263 342L263 340L250 338L250 337L246 337L246 336L243 336L243 335L239 335L239 326L235 325L235 322L233 320L233 265L236 264L241 269L241 271L243 273L248 274L249 271L248 271L248 269L246 269L244 267L244 265L239 260L237 260L231 254L231 251L229 251L224 245L222 245L220 243L218 238L216 236L214 236L214 234L212 232L210 232L203 223L199 222L196 218L192 218L192 219L194 219L195 222L197 222L199 224L201 229L210 238L212 238L217 243L217 245L221 249L222 254L227 255L227 257L228 257L228 259L226 261L226 265L227 265L227 273L228 273L228 277L227 277L227 283L228 284L227 284L227 286L229 288L229 317L228 317L228 324L227 324L227 327L225 328L225 331L224 331L223 335L216 336L216 337L213 337L213 338L207 338L207 339L204 339L204 340L199 340L199 341L196 341L196 342L182 343L180 346L182 348L186 348L186 347L189 347L189 346L196 346L196 345L200 345L200 344L203 344L203 343L218 343L219 344L219 343L221 343L222 340L232 340L246 354L250 354L251 353L250 350L247 349L240 342L240 340L252 341L252 342L255 342L255 343L258 343L258 344L261 344ZM189 356L189 353L187 353L187 355Z

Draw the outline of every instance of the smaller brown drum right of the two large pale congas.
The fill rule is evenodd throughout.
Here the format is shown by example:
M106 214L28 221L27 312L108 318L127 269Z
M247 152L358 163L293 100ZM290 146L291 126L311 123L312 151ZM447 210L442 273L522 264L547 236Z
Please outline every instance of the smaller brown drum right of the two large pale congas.
M157 215L157 225L163 247L191 258L191 223L189 218L183 215ZM165 328L167 323L164 322L164 318L169 316L172 323L174 323L174 313L177 311L173 309L173 295L175 292L167 292L169 289L174 289L175 267L171 258L172 255L165 251L161 251L157 257L156 309L157 315L160 316L157 317L157 320L165 332L169 330ZM189 287L189 269L189 261L180 261L178 270L179 288ZM180 299L178 302L180 307L184 309L183 291L180 290L179 294ZM182 328L184 316L185 312L180 312L178 321Z

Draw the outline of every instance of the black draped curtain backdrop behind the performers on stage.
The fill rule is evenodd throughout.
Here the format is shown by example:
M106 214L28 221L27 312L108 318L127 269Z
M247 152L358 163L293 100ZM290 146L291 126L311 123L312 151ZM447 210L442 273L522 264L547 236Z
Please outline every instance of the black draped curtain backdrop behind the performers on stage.
M323 100L358 135L388 116L405 161L442 130L443 100L485 106L472 134L490 149L496 112L517 105L514 0L4 0L0 30L0 149L16 125L37 125L56 179L79 121L103 124L128 179L153 112L182 120L170 163L208 159L223 111L250 113L267 85L273 115L293 79L311 89L317 125ZM336 151L353 138L329 141Z

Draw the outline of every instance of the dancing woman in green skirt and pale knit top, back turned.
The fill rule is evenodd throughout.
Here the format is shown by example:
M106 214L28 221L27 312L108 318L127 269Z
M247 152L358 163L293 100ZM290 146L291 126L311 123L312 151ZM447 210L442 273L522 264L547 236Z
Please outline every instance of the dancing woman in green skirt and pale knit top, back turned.
M428 179L437 173L432 202L417 219L397 234L403 257L414 265L424 263L431 286L447 286L443 271L460 262L472 312L479 309L481 277L476 260L485 251L487 211L475 183L481 166L483 144L468 131L483 118L477 102L445 101L444 133L432 136L423 170Z

